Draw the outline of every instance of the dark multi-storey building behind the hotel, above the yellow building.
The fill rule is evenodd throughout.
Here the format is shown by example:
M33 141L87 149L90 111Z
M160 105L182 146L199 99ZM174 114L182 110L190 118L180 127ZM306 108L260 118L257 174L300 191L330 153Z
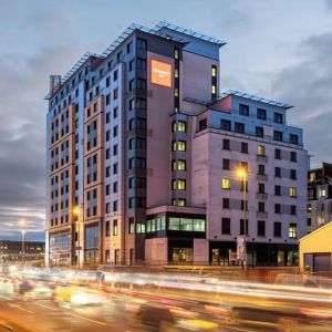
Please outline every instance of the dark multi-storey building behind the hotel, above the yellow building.
M332 221L332 164L308 172L308 232Z

